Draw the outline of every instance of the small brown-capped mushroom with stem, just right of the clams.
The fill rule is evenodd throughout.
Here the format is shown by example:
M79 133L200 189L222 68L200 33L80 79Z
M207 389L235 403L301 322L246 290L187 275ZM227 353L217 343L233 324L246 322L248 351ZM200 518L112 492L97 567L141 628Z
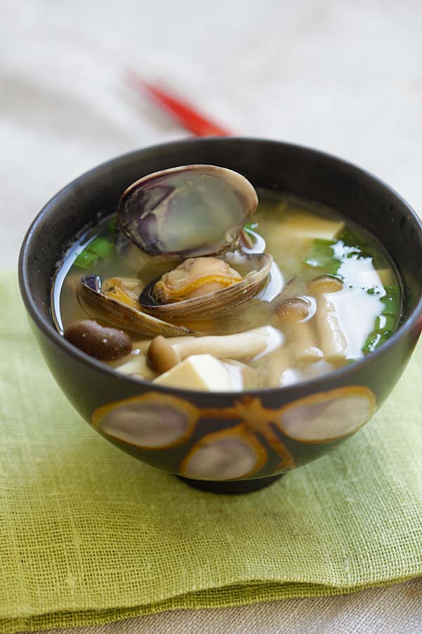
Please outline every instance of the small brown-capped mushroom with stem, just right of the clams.
M312 303L305 297L292 297L276 306L276 314L283 327L290 330L293 355L298 361L314 363L319 361L323 353L316 345L312 325L304 321L312 308Z

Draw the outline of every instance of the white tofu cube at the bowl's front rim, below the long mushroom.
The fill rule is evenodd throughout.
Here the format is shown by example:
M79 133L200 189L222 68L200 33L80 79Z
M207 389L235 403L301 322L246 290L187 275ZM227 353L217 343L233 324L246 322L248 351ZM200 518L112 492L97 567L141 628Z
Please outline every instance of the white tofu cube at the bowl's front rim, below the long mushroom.
M241 390L241 385L234 385L232 376L224 363L212 354L193 354L160 375L153 383L207 392Z

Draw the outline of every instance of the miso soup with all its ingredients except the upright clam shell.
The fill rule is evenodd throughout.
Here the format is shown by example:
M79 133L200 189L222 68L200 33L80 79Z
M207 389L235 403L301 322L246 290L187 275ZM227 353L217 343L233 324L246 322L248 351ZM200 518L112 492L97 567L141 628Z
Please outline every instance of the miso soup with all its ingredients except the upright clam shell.
M117 372L198 390L282 387L371 354L402 311L385 249L333 209L258 194L238 249L215 256L148 254L101 221L58 271L58 331Z

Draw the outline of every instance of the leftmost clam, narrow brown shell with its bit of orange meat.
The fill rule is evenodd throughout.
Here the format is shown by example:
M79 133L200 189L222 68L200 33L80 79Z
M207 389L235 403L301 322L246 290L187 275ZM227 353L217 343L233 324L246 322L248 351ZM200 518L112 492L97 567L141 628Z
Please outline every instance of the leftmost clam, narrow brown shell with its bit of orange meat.
M83 304L94 309L104 321L119 328L140 332L146 337L172 337L190 332L184 326L173 325L144 313L136 294L119 278L108 278L101 282L98 275L88 275L81 280L78 296Z

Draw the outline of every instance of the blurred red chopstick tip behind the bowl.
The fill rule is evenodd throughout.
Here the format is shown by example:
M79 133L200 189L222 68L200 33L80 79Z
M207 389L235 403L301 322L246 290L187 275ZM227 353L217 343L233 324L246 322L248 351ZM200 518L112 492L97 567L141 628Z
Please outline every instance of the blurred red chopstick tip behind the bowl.
M193 132L197 137L229 137L230 132L221 125L200 114L196 108L180 97L175 97L170 91L150 84L137 73L127 74L129 84L136 90L147 94L164 110L176 118L181 125Z

